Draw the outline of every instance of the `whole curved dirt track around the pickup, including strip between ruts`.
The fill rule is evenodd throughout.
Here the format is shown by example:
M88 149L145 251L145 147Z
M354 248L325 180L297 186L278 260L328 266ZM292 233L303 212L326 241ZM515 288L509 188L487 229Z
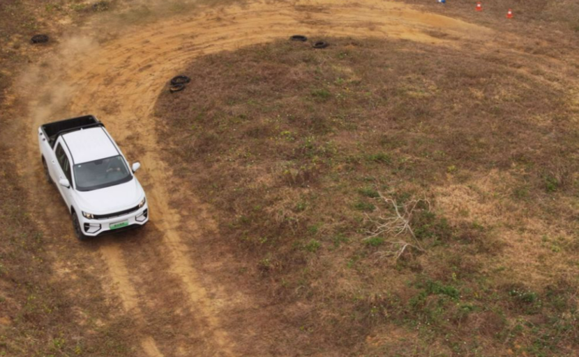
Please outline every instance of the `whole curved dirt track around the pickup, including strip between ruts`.
M445 33L429 35L431 31ZM453 46L454 40L476 33L490 38L492 31L456 19L420 13L401 3L359 1L308 2L232 6L207 9L200 15L169 19L135 28L121 38L97 45L90 36L63 43L50 70L31 68L24 82L41 79L36 98L29 102L27 160L21 168L36 202L56 202L57 191L41 181L36 128L43 122L93 113L119 141L130 161L140 161L138 173L151 207L151 223L126 237L105 237L89 244L73 238L70 219L61 204L37 207L47 235L61 235L51 247L57 255L59 278L68 281L75 269L92 267L112 301L135 319L142 356L236 356L239 343L259 339L259 326L224 324L227 315L251 306L252 296L227 294L216 278L201 276L186 241L211 234L215 223L198 205L184 219L172 207L180 195L179 182L158 152L153 106L167 79L197 56L289 35L332 35L365 38L403 38ZM482 39L484 40L484 39ZM191 198L195 199L195 198ZM191 214L191 212L188 212ZM46 223L47 222L47 223ZM213 259L213 257L207 257ZM223 258L220 258L223 259ZM84 265L77 264L83 262ZM106 269L104 269L106 267ZM239 319L238 319L239 321ZM163 335L158 322L176 326L179 336ZM255 330L251 337L245 331ZM275 341L270 343L276 343ZM263 354L266 354L265 352Z

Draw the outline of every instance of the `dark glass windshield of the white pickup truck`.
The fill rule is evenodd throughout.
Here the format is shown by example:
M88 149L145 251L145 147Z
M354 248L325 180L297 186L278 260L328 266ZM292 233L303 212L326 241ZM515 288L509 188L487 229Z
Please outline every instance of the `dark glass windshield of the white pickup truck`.
M78 191L104 189L128 182L132 178L121 155L75 165L75 182Z

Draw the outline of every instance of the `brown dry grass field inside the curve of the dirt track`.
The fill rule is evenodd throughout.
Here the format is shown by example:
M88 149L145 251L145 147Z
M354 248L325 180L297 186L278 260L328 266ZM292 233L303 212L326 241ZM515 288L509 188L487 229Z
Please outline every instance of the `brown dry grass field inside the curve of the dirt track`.
M326 40L206 56L161 95L167 158L220 217L207 251L234 246L311 351L572 354L569 88L501 54ZM370 234L396 217L384 198L416 240Z

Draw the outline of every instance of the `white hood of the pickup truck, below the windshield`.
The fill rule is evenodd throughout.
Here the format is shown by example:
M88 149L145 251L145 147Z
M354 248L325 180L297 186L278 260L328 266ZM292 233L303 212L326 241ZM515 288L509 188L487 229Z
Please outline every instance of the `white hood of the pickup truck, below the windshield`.
M137 177L115 186L93 191L75 191L77 202L84 212L110 214L135 207L144 198L144 191Z

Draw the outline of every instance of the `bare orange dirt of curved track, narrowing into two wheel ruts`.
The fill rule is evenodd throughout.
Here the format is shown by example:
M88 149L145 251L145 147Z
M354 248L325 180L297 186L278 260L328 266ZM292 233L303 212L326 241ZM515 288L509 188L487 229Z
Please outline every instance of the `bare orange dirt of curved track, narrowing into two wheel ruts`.
M171 290L181 291L186 296L183 303L188 306L186 312L173 318L194 321L200 331L186 333L190 338L201 335L206 340L202 346L192 348L201 349L204 356L208 355L207 351L213 351L213 356L232 356L236 354L234 339L229 334L231 331L225 331L222 326L221 307L232 310L246 303L220 294L217 286L203 285L190 259L186 239L198 237L201 228L214 230L216 223L202 207L200 219L184 221L180 212L171 206L172 198L178 194L171 187L178 187L179 182L172 178L170 168L156 150L160 138L154 132L156 120L153 116L156 98L166 89L167 79L197 56L287 38L294 33L359 38L387 36L453 45L452 40L428 35L425 31L429 29L448 33L451 38L464 38L472 30L479 35L489 33L479 26L442 15L420 13L400 3L375 0L354 4L335 0L250 3L220 11L207 10L195 17L170 19L137 29L102 47L93 46L89 55L61 54L57 58L64 69L53 74L43 92L50 97L55 87L64 89L59 100L36 112L31 123L33 130L43 122L56 120L57 113L66 113L66 116L94 113L103 119L123 149L126 150L124 141L135 141L135 145L142 147L142 150L133 151L140 152L143 163L139 175L149 197L151 223L135 235L142 234L150 238L143 239L146 243L157 246L140 249L134 242L114 237L98 243L100 259L108 267L113 290L120 297L124 310L137 315L140 330L154 319L144 311L154 314L156 310L155 306L146 307L151 299L143 294L146 291L143 282L172 277L174 279L167 279L167 294L171 294ZM31 112L34 113L32 106ZM31 142L29 156L33 162L36 150L36 142ZM131 155L128 156L130 159ZM31 186L33 182L31 177ZM154 241L157 235L158 241ZM144 255L151 261L143 259ZM128 262L143 265L129 267ZM156 265L163 269L155 269ZM142 271L152 276L142 276ZM163 296L158 296L154 303L162 304ZM189 325L183 322L183 326ZM141 348L146 356L162 356L154 339L160 336L143 335ZM191 351L187 346L181 347L183 351Z

